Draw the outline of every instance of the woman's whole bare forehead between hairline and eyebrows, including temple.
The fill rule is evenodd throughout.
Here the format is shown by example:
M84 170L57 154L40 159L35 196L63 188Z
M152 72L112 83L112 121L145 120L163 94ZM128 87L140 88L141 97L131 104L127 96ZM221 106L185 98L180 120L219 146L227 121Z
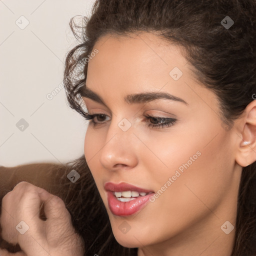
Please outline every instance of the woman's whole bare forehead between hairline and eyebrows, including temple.
M168 92L190 107L200 101L204 107L217 104L215 94L195 80L184 50L155 34L105 35L94 49L98 53L88 62L86 84L109 106L143 91Z

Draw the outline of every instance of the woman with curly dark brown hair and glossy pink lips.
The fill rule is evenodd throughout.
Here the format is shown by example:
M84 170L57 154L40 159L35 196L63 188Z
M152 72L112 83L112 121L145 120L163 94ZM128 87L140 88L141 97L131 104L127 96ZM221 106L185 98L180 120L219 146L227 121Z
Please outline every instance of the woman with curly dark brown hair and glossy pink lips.
M72 167L86 210L76 255L256 254L255 12L254 0L95 2L64 73L70 106L90 119ZM17 186L4 205L26 186L37 208L50 197ZM40 222L50 237L58 209ZM69 241L39 236L50 255L81 244L61 216Z

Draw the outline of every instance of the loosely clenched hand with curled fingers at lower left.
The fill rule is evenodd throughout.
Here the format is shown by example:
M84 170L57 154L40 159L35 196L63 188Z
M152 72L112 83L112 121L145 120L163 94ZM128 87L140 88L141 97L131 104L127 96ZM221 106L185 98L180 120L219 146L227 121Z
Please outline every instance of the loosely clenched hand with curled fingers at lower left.
M46 220L39 216L42 203ZM3 197L0 225L2 238L18 243L22 250L13 254L0 249L1 256L82 256L84 253L83 240L75 233L62 199L28 182L18 183Z

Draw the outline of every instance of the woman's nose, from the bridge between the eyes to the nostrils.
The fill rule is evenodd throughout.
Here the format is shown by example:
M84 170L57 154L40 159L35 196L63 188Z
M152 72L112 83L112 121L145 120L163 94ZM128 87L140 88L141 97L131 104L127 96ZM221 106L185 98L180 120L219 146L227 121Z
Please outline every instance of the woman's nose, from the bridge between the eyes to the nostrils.
M128 124L127 120L117 122L113 119L109 125L104 145L99 152L100 163L108 170L130 169L137 164L138 141L132 125L127 130L123 128Z

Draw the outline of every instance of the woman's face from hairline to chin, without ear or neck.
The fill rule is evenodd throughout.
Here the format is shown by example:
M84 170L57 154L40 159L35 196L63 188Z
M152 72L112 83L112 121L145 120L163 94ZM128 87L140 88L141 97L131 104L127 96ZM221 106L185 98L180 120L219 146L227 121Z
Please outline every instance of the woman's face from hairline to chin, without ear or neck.
M98 53L89 60L86 85L105 104L83 99L89 114L105 116L88 124L84 154L116 240L142 247L182 243L180 238L195 230L202 238L226 236L221 225L235 223L240 172L232 150L235 135L222 125L215 94L193 79L179 48L156 35L106 35L94 48ZM137 93L172 96L124 100ZM106 182L153 193L136 197L138 188L117 187L112 190L131 190L135 199L129 192L115 196L105 190ZM130 201L120 201L120 195Z

